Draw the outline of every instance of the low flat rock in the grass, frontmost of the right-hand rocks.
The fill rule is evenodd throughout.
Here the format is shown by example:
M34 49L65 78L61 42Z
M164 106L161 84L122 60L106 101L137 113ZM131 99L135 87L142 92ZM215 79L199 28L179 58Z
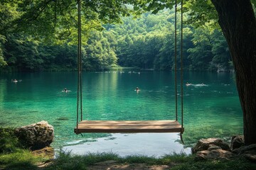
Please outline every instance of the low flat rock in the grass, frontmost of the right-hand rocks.
M196 153L196 160L206 159L230 159L233 157L232 153L223 149L203 150Z

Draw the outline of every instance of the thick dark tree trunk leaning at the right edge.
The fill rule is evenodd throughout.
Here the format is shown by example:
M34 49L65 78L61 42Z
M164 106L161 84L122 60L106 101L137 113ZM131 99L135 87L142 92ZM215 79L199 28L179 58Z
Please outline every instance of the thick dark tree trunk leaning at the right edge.
M256 144L256 20L250 0L211 0L228 42L243 112L245 144Z

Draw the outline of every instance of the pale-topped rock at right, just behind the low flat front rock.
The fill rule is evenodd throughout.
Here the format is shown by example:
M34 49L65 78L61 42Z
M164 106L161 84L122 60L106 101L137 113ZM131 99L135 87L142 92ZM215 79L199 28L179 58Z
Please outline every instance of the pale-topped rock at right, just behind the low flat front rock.
M199 140L196 146L192 148L192 154L195 154L199 151L208 150L208 148L213 147L213 145L220 147L223 150L230 151L230 147L228 146L228 144L223 142L223 140L220 140L219 138L208 138Z

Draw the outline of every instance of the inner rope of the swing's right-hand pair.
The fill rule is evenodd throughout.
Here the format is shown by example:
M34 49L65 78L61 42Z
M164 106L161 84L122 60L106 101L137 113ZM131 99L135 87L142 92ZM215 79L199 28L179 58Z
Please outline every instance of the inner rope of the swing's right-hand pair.
M177 0L175 0L175 45L174 45L174 64L175 64L175 115L178 120L178 94L177 94Z

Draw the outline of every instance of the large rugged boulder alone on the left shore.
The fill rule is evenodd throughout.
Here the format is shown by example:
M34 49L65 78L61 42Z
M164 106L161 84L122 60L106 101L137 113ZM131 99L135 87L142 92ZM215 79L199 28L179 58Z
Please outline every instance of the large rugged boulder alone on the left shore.
M15 130L15 135L24 147L41 149L53 142L53 126L46 121L26 125Z

